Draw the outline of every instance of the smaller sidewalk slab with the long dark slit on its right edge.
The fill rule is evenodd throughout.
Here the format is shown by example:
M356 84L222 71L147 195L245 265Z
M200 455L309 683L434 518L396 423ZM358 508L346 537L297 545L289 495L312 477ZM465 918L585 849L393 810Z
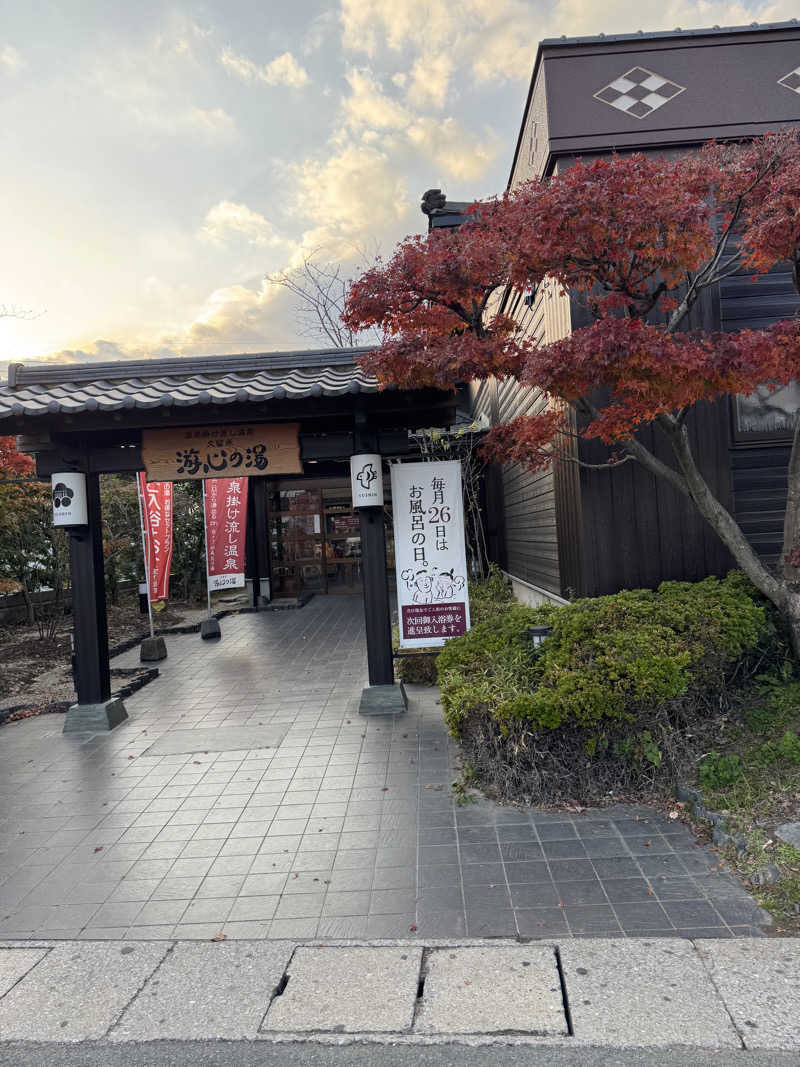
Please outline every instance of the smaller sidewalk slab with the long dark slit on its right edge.
M416 1033L566 1034L550 945L436 949L425 974Z

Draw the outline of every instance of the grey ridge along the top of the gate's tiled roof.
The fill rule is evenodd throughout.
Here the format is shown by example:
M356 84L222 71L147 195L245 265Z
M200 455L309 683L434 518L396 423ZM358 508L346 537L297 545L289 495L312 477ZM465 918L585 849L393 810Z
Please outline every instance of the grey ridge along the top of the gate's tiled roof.
M171 356L165 360L114 360L107 363L12 363L9 366L7 386L13 389L43 383L151 379L165 376L191 378L198 375L335 367L353 364L358 355L369 351L370 348L365 346L288 352L246 352L234 355Z

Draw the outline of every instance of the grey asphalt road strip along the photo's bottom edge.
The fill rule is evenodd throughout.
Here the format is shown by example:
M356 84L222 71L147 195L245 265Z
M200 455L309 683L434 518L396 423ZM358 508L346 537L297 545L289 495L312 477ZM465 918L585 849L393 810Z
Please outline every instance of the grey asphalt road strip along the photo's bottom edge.
M0 1067L800 1067L796 1052L463 1045L329 1047L304 1041L0 1045Z

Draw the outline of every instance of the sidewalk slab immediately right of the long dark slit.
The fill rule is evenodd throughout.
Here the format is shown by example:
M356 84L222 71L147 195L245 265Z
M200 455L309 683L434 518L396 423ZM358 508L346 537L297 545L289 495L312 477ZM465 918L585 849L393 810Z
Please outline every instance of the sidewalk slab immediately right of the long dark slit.
M690 941L564 941L574 1036L592 1045L741 1048Z

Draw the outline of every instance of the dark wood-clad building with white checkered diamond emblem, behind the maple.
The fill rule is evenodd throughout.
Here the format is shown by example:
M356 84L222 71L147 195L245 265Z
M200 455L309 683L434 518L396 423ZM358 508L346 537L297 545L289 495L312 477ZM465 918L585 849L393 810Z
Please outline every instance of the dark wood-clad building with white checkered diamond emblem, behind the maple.
M800 23L544 41L539 47L509 188L556 174L577 158L612 152L668 155L713 139L741 139L800 123ZM434 206L445 224L462 205ZM598 205L602 211L603 206ZM761 328L800 307L788 268L753 285L734 276L707 291L697 324ZM510 310L549 343L583 324L569 296L516 296ZM476 415L505 421L546 403L514 382L473 387ZM790 431L800 392L701 404L691 434L703 472L759 554L774 562L782 540ZM672 462L657 430L643 442ZM578 457L606 458L581 441ZM569 599L723 573L732 560L675 490L637 464L590 471L564 463L490 476L494 556L526 600Z

